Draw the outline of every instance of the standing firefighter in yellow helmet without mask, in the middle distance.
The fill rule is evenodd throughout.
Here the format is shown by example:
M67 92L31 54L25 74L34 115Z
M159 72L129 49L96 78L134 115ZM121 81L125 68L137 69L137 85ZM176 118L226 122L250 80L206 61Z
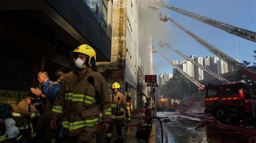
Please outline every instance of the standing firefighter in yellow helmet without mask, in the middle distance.
M117 127L117 135L118 135L117 142L123 142L124 139L123 139L122 128L125 124L124 112L126 108L126 100L125 100L125 96L120 92L119 83L114 82L112 84L112 91L113 91L113 94L110 95L110 101L112 106L111 108L112 123L110 124L109 131L107 132L106 142L110 142L111 140L114 124L116 124L116 127Z

